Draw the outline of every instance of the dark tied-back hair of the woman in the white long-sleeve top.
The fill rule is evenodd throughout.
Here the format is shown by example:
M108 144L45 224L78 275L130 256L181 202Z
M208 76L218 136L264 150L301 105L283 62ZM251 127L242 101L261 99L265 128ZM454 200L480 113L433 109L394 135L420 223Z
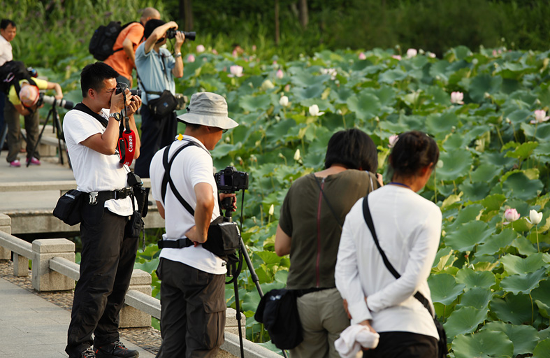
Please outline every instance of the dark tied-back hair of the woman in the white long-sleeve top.
M398 137L390 155L390 166L393 174L414 176L421 168L437 164L440 150L437 143L421 131L407 131Z

